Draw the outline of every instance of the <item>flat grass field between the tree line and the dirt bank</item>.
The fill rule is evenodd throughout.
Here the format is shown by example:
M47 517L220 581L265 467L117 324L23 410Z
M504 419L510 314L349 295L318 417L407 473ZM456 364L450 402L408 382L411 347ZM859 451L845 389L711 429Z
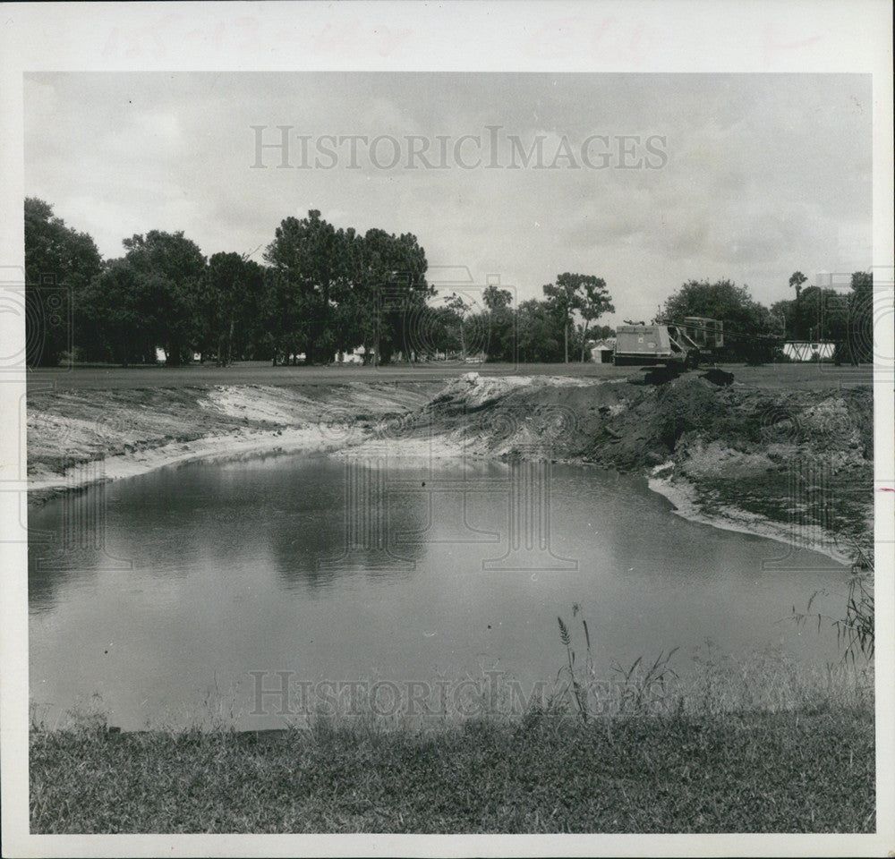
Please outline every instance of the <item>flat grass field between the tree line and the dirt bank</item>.
M832 364L725 365L737 382L770 389L835 389L873 383L873 367ZM698 372L699 370L697 370ZM476 372L483 376L550 375L584 378L627 378L635 367L612 364L396 364L388 367L272 367L267 361L243 361L230 367L192 364L186 367L73 367L29 370L29 390L201 387L208 385L332 385L345 382L439 381Z

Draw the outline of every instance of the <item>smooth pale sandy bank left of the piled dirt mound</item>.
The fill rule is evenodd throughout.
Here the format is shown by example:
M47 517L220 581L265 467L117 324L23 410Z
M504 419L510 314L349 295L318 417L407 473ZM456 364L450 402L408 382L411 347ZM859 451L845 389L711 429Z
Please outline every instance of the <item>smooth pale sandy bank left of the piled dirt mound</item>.
M440 387L359 382L30 394L29 500L194 459L338 450L420 408Z

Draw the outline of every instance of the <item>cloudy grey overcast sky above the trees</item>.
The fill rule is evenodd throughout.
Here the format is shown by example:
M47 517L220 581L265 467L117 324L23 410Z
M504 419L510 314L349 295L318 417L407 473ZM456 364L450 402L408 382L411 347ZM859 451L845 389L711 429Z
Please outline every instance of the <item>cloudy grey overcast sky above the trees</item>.
M40 72L25 188L106 258L160 229L260 260L284 217L317 208L415 234L436 282L467 267L524 300L593 274L609 322L645 319L690 278L771 303L796 269L869 268L870 98L844 74ZM289 126L288 168L279 149L253 166L254 125L264 143ZM352 157L326 135L367 142Z

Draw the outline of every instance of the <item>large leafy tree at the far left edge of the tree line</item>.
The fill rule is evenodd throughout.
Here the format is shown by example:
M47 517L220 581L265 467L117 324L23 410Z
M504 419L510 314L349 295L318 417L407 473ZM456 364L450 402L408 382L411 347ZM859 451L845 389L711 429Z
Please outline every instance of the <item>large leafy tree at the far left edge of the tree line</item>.
M69 330L79 318L72 305L77 310L81 293L102 270L102 258L90 235L65 225L49 203L29 197L24 208L27 358L53 366L70 342L86 342L86 331Z

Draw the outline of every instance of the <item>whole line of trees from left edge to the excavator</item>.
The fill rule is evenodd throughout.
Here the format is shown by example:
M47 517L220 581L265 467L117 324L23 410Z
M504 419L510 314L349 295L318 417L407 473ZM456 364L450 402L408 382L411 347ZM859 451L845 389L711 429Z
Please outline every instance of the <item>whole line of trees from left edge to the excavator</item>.
M497 285L436 300L415 235L337 229L316 209L277 226L264 264L235 251L206 258L182 232L151 230L123 246L123 256L103 259L50 204L25 200L27 339L40 346L31 364L155 363L159 349L169 365L196 354L220 365L351 353L383 364L584 361L589 338L612 333L595 325L612 310L599 277L560 275L543 300L518 307ZM55 326L40 305L53 282L71 302L66 324Z

